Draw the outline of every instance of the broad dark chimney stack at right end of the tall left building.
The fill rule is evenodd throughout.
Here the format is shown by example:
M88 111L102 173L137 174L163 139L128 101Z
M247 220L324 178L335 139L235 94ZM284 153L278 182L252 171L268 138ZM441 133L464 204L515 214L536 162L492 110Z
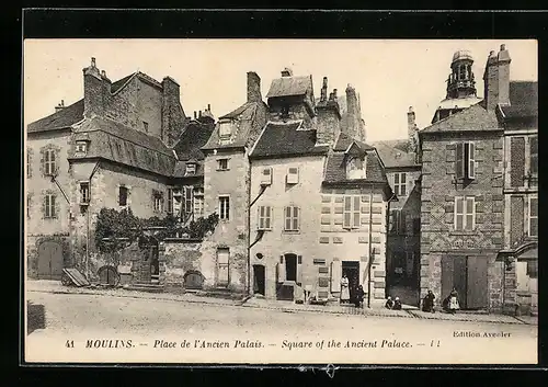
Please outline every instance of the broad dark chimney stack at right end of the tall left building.
M174 145L181 135L182 123L186 119L181 105L179 83L171 77L162 80L162 129L161 138L167 146Z

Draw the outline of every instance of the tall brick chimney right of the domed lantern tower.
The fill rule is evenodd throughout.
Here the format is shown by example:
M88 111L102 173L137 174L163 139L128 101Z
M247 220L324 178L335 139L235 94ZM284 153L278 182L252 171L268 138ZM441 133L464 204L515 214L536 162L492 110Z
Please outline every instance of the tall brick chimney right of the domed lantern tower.
M483 72L483 99L487 110L510 104L510 53L502 44L498 54L489 53Z

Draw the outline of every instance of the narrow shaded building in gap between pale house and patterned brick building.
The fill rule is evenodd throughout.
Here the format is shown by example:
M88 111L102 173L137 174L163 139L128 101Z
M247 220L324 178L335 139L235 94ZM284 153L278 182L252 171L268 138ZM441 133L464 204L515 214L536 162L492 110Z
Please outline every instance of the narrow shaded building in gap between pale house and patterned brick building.
M421 236L421 163L415 114L408 112L408 138L377 141L388 182L395 193L389 205L387 293L403 304L419 305Z

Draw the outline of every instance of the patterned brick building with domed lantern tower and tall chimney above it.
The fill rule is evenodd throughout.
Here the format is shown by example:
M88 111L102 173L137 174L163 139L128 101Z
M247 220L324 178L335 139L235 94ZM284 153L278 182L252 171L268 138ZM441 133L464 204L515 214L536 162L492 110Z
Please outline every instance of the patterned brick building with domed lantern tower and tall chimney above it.
M472 58L457 52L447 98L432 125L419 132L421 293L431 288L439 300L455 287L465 309L496 310L504 303L506 271L498 260L504 235L504 141L495 107L504 103L502 89L507 95L506 56L504 47L498 56L492 53L483 77L486 99L468 106L476 98Z

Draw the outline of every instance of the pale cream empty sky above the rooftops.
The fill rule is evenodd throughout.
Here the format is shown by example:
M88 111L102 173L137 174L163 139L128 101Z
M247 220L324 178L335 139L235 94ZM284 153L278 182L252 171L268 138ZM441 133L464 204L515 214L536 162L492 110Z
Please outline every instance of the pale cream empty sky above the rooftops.
M212 105L215 117L246 102L247 72L261 77L262 95L285 67L312 76L315 95L323 77L328 91L359 93L367 141L407 137L413 106L419 128L426 127L445 98L453 54L471 53L478 96L490 50L506 45L511 80L537 80L537 42L490 39L25 39L24 124L47 116L61 101L83 96L82 69L96 59L114 82L135 71L181 86L186 115Z

